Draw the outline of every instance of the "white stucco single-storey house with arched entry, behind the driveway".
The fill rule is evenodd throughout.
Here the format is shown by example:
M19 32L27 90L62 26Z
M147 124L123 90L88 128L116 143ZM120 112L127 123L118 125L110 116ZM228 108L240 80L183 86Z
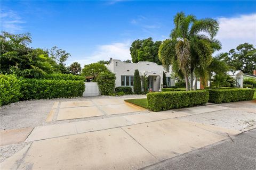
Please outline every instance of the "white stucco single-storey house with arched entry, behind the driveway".
M171 67L170 72L166 72L162 65L153 62L125 63L121 60L111 60L106 66L116 74L116 87L129 86L133 88L134 71L136 69L139 70L142 87L142 77L146 75L148 89L161 91L163 88L163 72L166 74L167 86L175 86L174 79L171 79Z

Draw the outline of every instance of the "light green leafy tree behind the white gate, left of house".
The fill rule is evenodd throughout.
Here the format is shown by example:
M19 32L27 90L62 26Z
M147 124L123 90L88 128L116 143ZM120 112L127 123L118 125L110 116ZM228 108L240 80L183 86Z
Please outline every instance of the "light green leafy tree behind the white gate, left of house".
M84 77L94 77L97 78L101 72L108 71L107 67L100 63L91 63L84 65L82 69L82 74Z

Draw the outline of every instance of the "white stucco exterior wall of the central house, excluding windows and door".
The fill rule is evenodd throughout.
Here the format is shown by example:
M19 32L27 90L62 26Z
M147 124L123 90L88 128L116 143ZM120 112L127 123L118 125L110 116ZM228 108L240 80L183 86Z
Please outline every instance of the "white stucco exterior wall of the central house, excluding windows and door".
M146 76L154 76L154 91L158 91L161 87L160 82L163 84L163 71L162 65L157 65L153 62L138 62L138 63L125 63L121 60L111 60L110 64L106 65L107 68L116 74L116 87L121 86L122 75L134 75L136 69L139 70L140 76L144 73ZM170 67L171 71L171 67ZM166 77L171 77L170 72L165 73ZM156 79L156 81L155 81ZM142 83L141 83L142 84ZM171 80L172 86L174 86L174 80Z

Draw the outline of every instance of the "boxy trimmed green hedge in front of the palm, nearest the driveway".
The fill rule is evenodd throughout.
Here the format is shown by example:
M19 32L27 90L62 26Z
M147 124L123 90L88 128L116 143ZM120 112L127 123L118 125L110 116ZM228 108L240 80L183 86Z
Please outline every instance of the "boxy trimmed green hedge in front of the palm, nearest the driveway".
M147 95L148 108L151 111L167 111L173 108L202 105L209 100L209 92L198 91L168 91L153 92Z

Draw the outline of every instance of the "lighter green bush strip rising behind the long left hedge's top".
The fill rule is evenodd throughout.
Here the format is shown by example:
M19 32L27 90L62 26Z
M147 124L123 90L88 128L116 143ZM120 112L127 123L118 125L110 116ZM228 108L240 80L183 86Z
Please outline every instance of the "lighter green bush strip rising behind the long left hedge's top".
M85 78L79 75L73 75L73 74L46 74L44 76L44 79L49 80L83 80L85 81Z

